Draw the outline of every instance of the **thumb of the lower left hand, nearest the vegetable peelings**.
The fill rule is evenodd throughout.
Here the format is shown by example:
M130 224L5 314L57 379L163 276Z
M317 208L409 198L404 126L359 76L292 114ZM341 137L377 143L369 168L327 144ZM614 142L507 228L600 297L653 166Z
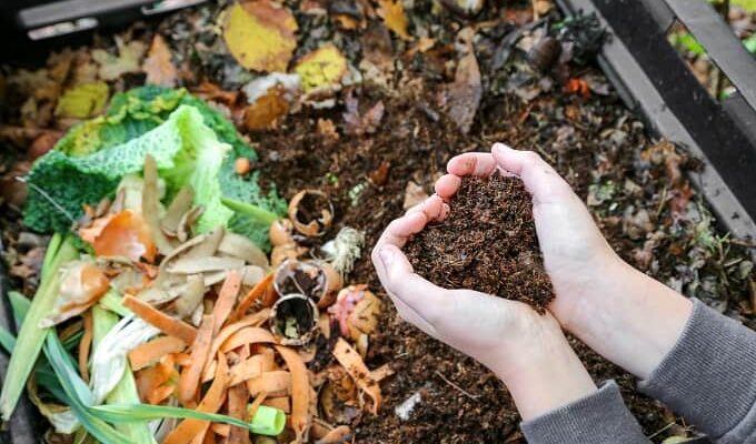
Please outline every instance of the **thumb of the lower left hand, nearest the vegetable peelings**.
M386 290L436 326L451 302L449 291L414 273L412 265L399 249L387 245L378 254L386 273L381 281Z

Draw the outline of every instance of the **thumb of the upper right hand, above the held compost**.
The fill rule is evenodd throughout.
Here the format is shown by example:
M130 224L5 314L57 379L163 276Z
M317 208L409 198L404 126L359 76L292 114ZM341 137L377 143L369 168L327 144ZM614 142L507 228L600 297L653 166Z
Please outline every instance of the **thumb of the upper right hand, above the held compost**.
M567 182L537 153L514 150L504 143L495 143L491 152L501 169L523 180L535 201L546 202L571 193Z

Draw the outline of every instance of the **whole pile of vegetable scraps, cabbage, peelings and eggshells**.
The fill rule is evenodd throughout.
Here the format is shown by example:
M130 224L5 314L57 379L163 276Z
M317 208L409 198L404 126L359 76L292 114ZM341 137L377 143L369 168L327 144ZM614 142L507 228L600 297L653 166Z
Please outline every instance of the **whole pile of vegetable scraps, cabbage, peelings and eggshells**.
M255 159L201 100L146 87L37 160L24 221L56 234L34 297L10 293L3 420L24 387L57 432L102 443L342 442L377 412L380 301L341 275L362 235L301 259L332 205L262 194Z

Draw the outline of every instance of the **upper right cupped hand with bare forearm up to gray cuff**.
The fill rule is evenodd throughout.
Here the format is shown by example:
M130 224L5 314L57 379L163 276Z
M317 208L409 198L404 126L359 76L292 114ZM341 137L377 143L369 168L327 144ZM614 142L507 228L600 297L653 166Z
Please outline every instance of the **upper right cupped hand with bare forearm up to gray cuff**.
M533 195L544 266L556 293L548 310L565 330L630 373L647 377L674 346L690 302L625 263L583 201L538 154L496 143L451 159L436 182L448 201L466 175L515 174Z

